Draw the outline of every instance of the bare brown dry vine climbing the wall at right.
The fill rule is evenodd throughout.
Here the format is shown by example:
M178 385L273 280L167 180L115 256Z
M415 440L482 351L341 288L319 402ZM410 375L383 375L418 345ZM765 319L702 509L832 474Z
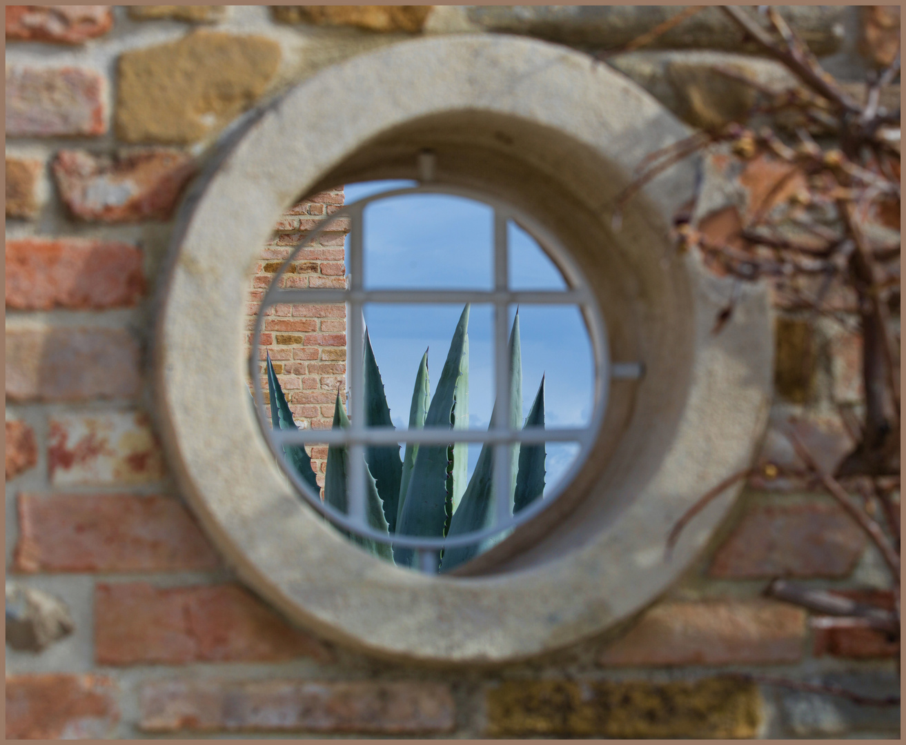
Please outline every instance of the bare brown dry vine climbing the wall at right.
M745 117L718 129L698 131L646 158L617 200L615 225L622 207L651 178L718 143L727 143L742 160L766 154L788 164L786 177L737 234L716 243L699 233L689 215L680 215L675 221L677 243L680 250L699 251L706 265L737 282L768 278L797 307L842 323L845 319L828 302L828 293L834 282L853 291L863 337L864 400L858 424L847 422L846 426L857 444L832 474L819 467L799 438L788 436L812 482L841 504L881 552L892 577L894 609L858 604L781 579L770 583L766 594L837 616L837 625L869 626L899 639L900 524L892 494L900 491L900 339L890 316L892 306L899 310L901 244L899 234L895 240L879 238L866 225L885 207L895 205L897 213L900 210L900 111L880 105L882 89L899 79L900 55L885 70L870 74L860 102L822 70L776 9L768 7L762 18L743 7L725 6L722 11L762 53L784 65L797 85L790 91L774 91L738 72L718 69L757 91L757 104ZM776 205L776 197L794 178L807 186ZM789 237L780 229L784 221L801 228L805 238ZM731 301L716 320L716 333L732 312ZM721 482L683 515L670 532L668 550L695 514L745 475L736 473ZM853 492L861 500L853 499ZM865 509L869 506L872 513ZM900 702L899 697L867 699L834 686L779 679L762 682L863 703Z

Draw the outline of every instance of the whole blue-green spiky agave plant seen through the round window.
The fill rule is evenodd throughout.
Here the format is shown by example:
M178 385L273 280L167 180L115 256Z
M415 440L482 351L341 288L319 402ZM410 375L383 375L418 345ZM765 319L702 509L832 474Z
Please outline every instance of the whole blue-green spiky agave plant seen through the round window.
M465 429L468 423L468 315L467 305L453 333L447 360L440 372L434 396L429 395L428 352L421 358L410 406L409 428L447 427ZM510 426L545 426L545 378L535 401L522 419L522 354L519 342L519 313L513 320L508 343L510 359ZM381 371L371 339L365 330L364 349L365 424L393 427L384 393ZM293 414L267 357L267 385L271 402L271 423L275 429L294 429ZM496 404L495 404L496 407ZM493 421L492 415L492 421ZM339 393L333 411L333 427L349 426ZM451 440L455 435L451 435ZM514 444L510 448L510 513L523 510L545 491L545 444ZM413 549L392 545L396 534L440 538L462 535L489 527L494 519L493 447L484 444L472 478L467 476L467 444L406 445L400 457L399 445L370 445L365 448L366 516L369 526L388 536L386 542L348 534L362 548L396 563L411 566ZM302 480L319 491L312 462L302 445L284 445L286 462ZM334 445L327 451L323 499L336 510L347 510L347 448ZM343 531L346 532L346 531ZM439 552L436 571L449 571L476 556L493 540Z

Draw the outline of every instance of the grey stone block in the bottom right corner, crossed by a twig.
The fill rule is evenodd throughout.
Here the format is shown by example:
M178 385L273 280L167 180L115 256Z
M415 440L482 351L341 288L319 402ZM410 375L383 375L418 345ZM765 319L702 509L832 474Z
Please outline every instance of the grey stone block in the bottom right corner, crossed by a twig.
M835 686L866 698L900 697L900 676L893 672L859 671L809 677L807 683ZM899 706L871 706L843 696L777 689L786 728L795 737L846 737L853 732L900 731Z

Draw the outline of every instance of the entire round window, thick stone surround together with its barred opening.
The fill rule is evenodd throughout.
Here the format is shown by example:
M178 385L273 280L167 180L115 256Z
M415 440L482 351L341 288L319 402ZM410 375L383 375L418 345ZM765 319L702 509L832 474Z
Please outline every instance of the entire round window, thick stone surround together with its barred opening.
M237 132L174 235L156 382L180 488L240 578L337 641L445 663L569 645L663 592L735 497L731 488L709 502L665 557L679 516L751 462L773 362L766 291L739 289L733 316L712 333L732 283L671 241L670 218L692 194L694 162L645 186L614 226L612 204L633 168L686 134L605 65L487 34L400 43L325 69ZM297 429L286 417L284 427L265 404L271 396L257 365L266 367L266 355L253 355L249 367L249 277L289 205L338 184L385 179L416 186L351 199L332 215L349 224L348 265L327 286L301 286L290 261L267 291L266 303L342 308L348 325L336 354L348 355L349 369L318 399L320 424ZM382 246L372 236L381 220L411 226L391 219L400 200L432 199L485 215L472 243L483 242L486 259L466 266L477 244L454 247L446 264L435 263L438 272L416 277L426 244L409 251L399 235ZM460 229L467 233L465 224L449 232ZM553 283L531 282L537 272L519 254L525 246L552 264ZM510 343L517 309L521 404ZM585 351L545 367L545 354L557 354L550 324L561 310L577 319L574 349ZM267 312L258 320L262 347ZM425 331L394 346L389 330L401 328ZM432 363L422 422L412 394L425 347ZM587 367L587 385L564 377L570 364L575 375ZM542 428L534 404L545 373ZM379 388L383 400L372 395ZM573 388L587 406L554 421L555 394ZM554 451L566 446L573 451L554 482ZM407 450L416 447L431 457L420 467L410 460L404 490ZM457 458L457 448L467 457ZM543 457L529 457L539 448ZM332 449L342 467L328 474ZM286 465L300 451L310 475L303 458ZM383 464L381 455L389 456ZM384 467L393 458L399 470ZM522 478L520 460L532 462ZM430 488L416 491L419 468ZM552 475L539 493L530 476L542 470ZM400 488L388 490L382 482L394 473ZM467 501L469 489L484 499ZM407 516L414 494L433 502L422 517L414 508ZM480 509L454 530L468 504Z

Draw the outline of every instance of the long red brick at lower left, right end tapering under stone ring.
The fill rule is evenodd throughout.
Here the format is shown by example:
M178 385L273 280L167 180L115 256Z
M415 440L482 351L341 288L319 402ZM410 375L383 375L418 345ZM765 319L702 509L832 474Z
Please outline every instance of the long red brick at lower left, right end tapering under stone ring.
M333 659L321 642L237 585L99 584L94 618L97 664Z

